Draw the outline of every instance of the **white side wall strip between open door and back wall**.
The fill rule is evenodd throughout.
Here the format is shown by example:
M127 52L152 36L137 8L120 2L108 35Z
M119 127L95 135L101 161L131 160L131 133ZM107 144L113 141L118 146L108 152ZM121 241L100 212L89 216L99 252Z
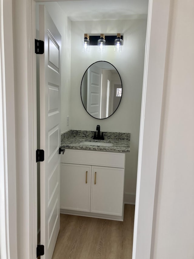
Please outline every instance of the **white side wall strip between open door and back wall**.
M42 4L42 3L41 3ZM62 37L61 59L61 133L70 129L66 117L70 114L71 21L56 2L43 3ZM38 22L38 3L36 21Z

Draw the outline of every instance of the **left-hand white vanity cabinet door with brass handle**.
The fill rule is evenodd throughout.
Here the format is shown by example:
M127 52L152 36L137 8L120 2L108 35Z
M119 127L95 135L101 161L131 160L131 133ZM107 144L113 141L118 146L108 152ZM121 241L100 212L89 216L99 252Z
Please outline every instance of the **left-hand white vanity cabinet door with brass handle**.
M61 209L90 211L91 166L61 163Z

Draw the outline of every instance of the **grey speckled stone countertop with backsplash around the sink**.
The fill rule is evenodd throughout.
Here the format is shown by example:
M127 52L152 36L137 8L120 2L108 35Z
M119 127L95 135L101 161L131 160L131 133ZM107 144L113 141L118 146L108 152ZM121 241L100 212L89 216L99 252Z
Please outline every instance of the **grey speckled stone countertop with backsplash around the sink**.
M100 132L102 135L102 132ZM122 132L104 132L104 140L94 140L94 131L69 130L61 134L61 147L66 149L81 149L104 152L120 152L130 151L130 133ZM85 145L81 142L101 142L112 143L112 146Z

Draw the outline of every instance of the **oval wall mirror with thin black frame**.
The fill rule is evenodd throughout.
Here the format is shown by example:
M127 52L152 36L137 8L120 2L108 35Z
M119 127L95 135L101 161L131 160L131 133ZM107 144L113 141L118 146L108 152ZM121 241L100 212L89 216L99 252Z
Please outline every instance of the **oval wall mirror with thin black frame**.
M85 71L81 98L85 110L96 119L110 117L122 97L122 82L117 69L107 61L97 61Z

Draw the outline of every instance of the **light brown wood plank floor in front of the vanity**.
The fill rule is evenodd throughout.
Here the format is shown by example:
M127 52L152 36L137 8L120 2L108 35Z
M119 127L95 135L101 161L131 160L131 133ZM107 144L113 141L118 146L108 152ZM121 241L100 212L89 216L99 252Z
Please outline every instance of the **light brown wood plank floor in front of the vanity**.
M125 204L123 222L60 214L52 259L131 259L134 213Z

